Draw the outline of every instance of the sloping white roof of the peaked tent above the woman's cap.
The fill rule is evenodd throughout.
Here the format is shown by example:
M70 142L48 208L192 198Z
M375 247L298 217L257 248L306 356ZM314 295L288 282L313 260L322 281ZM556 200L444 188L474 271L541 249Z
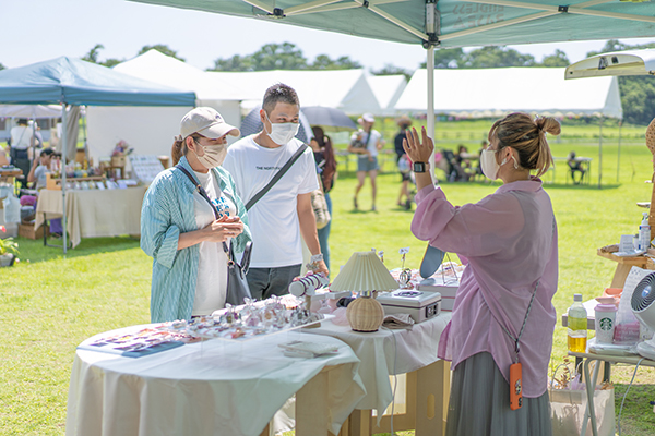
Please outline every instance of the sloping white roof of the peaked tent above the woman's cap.
M121 62L114 71L129 74L180 90L192 90L200 100L248 100L258 98L249 88L228 85L221 77L209 74L179 59L157 50Z

